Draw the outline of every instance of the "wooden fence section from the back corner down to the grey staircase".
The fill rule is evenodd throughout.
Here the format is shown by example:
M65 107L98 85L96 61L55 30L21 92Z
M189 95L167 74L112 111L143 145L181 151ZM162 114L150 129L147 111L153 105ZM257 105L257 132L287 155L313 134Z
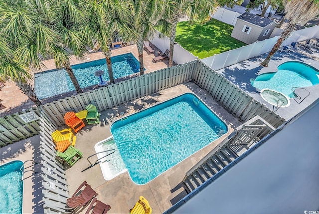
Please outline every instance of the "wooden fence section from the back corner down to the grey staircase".
M286 122L285 119L253 99L202 61L198 60L197 63L199 66L196 66L196 70L193 72L193 81L211 94L242 122L246 122L257 115L275 128Z

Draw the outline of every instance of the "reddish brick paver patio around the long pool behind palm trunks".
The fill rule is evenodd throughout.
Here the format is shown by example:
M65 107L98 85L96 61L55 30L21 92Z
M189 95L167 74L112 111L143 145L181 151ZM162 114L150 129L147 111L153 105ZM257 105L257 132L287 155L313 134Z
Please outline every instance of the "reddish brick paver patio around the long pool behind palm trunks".
M156 50L155 54L148 54L145 50L143 51L145 73L160 70L168 66L167 58L165 58L163 61L158 61L157 63L154 63L152 61L155 56L158 56L158 50L159 50L154 45L152 47ZM112 50L112 56L117 56L117 55L130 53L130 52L137 59L139 58L136 44L115 48ZM103 59L103 58L105 58L103 53L101 51L97 51L97 52L87 53L83 59L76 59L74 56L71 56L70 62L71 62L71 65L75 65L75 64L94 61L94 60ZM44 64L44 67L42 68L42 70L37 72L56 69L56 66L54 64L54 59L45 60L43 61L43 64ZM133 75L137 75L137 74L133 74ZM121 79L118 79L115 81L117 82L120 80ZM99 78L97 78L97 83L99 83ZM12 114L15 112L22 111L22 109L28 109L35 106L34 103L30 99L28 99L28 97L25 94L22 93L22 91L15 85L14 82L6 81L4 85L5 86L0 90L0 102L5 108L0 110L0 117L7 114ZM31 85L34 86L34 81L31 82ZM91 90L96 87L97 86L88 87L83 89L83 91ZM47 102L52 102L53 100L58 100L64 97L71 96L73 94L76 94L75 91L71 91L63 95L57 95L53 98L43 99L41 100L41 102L44 104Z

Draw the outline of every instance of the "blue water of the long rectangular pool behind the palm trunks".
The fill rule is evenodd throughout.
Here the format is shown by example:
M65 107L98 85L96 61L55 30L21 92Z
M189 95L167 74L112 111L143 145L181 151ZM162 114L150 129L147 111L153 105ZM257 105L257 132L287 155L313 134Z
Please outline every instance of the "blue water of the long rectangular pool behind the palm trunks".
M140 71L140 63L132 53L111 57L114 79L128 76ZM94 71L103 70L102 79L109 81L106 60L99 59L71 66L81 88L96 85L100 78L94 76ZM34 90L39 99L52 97L75 90L65 69L55 69L36 73L34 75Z

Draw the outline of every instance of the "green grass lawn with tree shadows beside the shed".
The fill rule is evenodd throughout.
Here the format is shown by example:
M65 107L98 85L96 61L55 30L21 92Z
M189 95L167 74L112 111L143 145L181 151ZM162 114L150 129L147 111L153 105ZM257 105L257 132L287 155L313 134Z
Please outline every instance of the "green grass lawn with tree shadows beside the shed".
M230 36L233 26L216 19L205 24L178 22L175 41L200 59L246 45Z

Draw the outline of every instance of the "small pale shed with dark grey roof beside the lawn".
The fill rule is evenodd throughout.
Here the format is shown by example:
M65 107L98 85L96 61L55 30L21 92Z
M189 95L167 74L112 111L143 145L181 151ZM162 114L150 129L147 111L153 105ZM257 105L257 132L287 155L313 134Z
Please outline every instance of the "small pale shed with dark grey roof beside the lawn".
M231 37L246 44L252 44L269 38L275 27L275 21L245 12L237 17Z

